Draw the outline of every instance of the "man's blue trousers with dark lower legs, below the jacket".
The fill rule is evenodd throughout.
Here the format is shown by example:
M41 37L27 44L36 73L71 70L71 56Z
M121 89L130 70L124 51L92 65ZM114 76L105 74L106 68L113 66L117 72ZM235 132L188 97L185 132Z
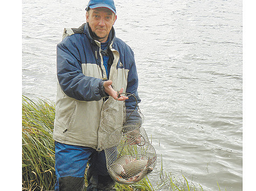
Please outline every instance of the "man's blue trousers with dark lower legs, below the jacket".
M115 190L115 181L109 176L105 152L95 149L55 142L56 191L83 191L87 161L87 191Z

